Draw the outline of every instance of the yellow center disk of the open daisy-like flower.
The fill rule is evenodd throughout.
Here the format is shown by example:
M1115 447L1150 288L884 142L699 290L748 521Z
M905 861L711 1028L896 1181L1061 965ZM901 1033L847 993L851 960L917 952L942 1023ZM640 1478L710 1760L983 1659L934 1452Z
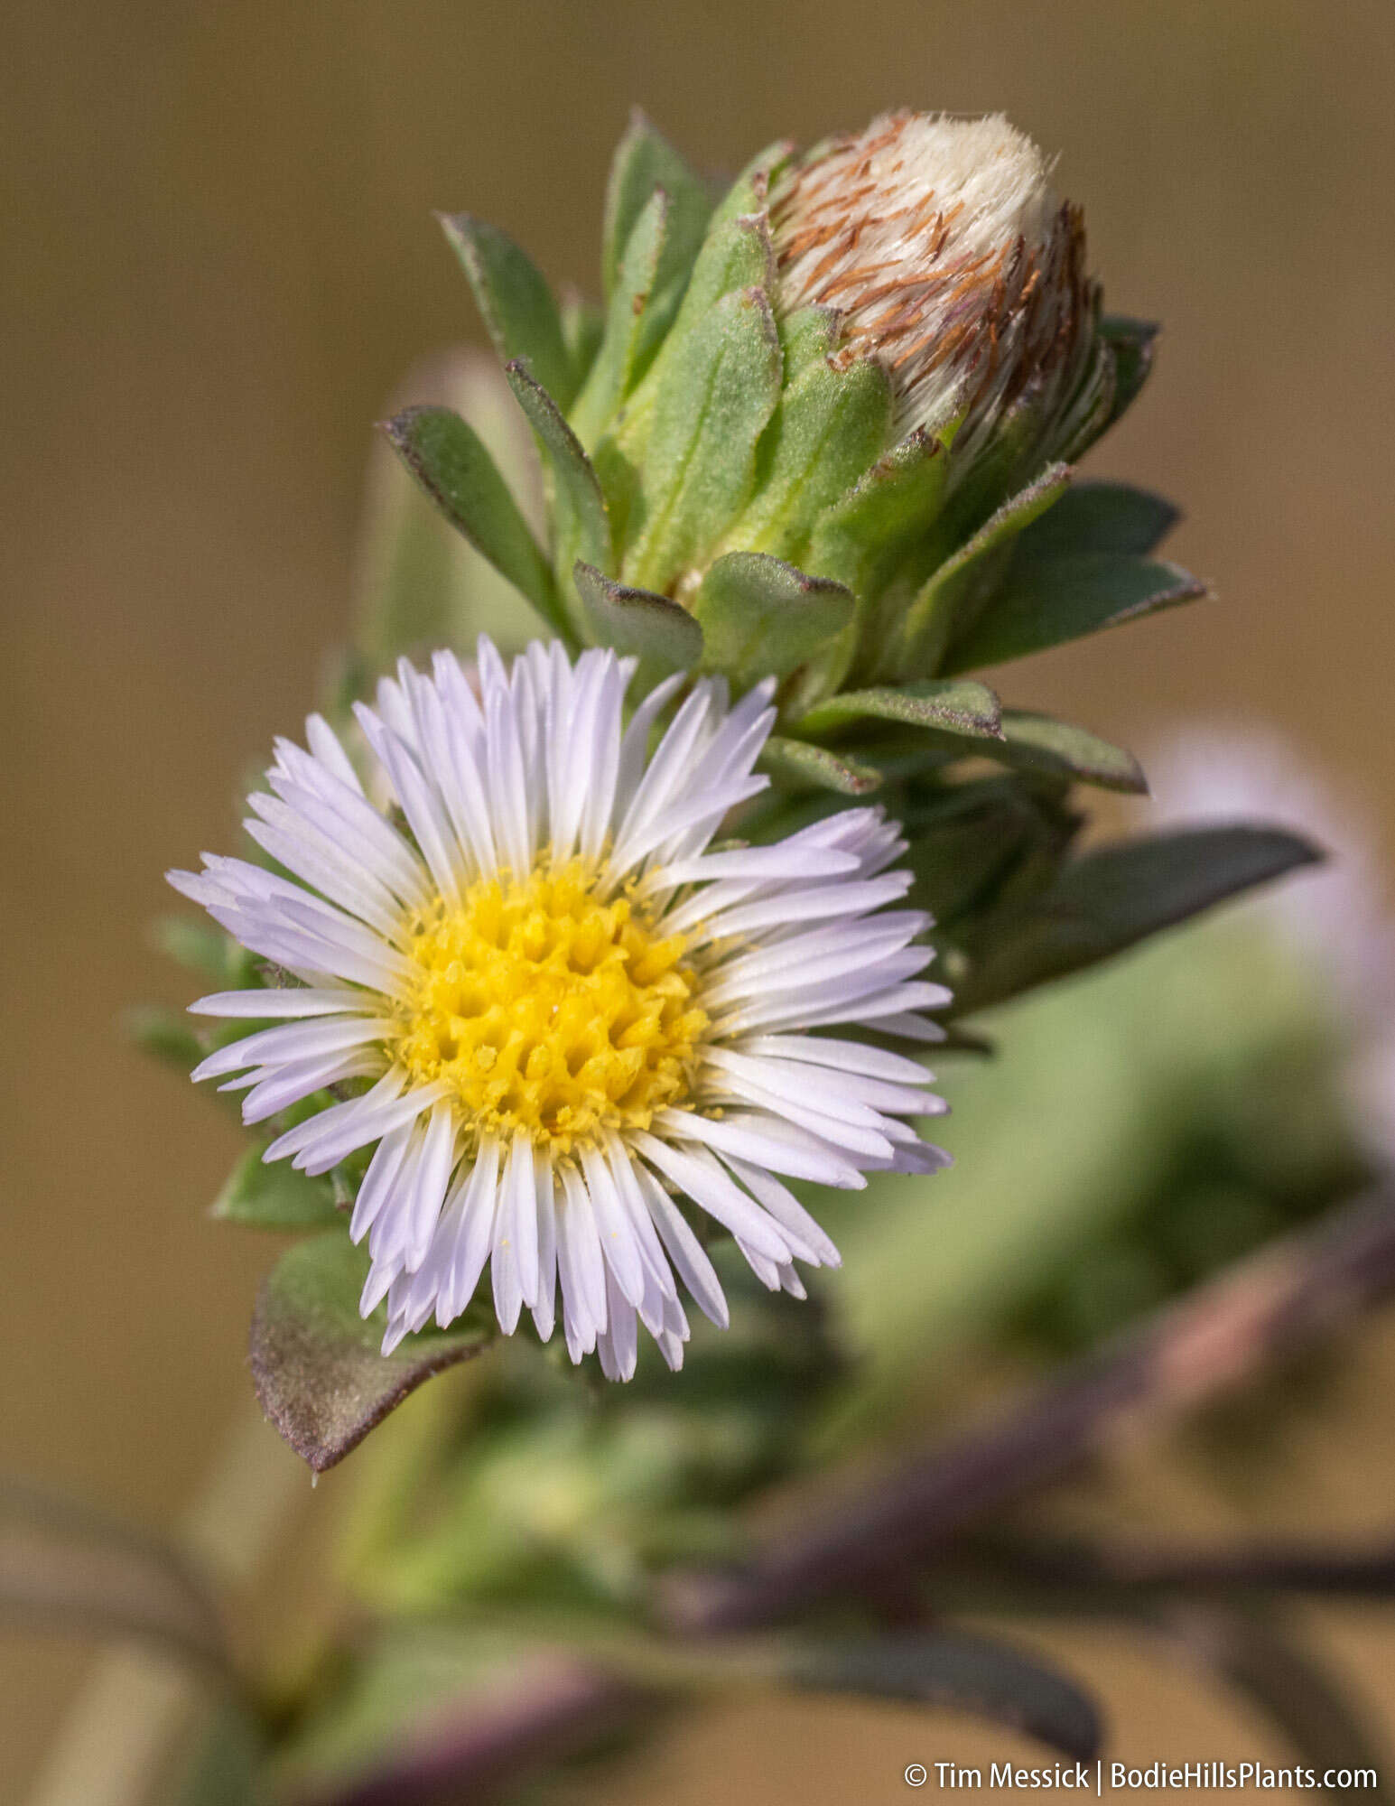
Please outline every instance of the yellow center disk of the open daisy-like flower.
M567 1154L647 1129L688 1094L707 1028L685 945L602 901L582 860L481 878L412 919L398 1060L450 1084L472 1140L522 1131Z

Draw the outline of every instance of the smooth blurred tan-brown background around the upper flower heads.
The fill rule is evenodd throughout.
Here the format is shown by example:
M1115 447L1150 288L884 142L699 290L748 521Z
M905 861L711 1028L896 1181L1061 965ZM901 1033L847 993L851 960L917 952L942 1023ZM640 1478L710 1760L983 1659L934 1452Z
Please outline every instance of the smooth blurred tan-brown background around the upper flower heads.
M1059 150L1109 305L1167 327L1095 468L1185 504L1176 556L1223 600L1021 666L1010 694L1135 740L1263 712L1395 825L1388 0L5 13L2 1466L168 1522L244 1405L271 1244L206 1221L233 1134L116 1017L186 995L143 943L161 872L228 843L240 769L296 730L343 634L383 396L479 334L432 209L595 287L632 101L710 170L903 103L1003 108ZM0 1638L5 1799L85 1662ZM808 1721L748 1727L743 1797L775 1797L772 1748L833 1786L835 1750L880 1746L840 1723L811 1745ZM909 1723L893 1766L929 1746L902 1754Z

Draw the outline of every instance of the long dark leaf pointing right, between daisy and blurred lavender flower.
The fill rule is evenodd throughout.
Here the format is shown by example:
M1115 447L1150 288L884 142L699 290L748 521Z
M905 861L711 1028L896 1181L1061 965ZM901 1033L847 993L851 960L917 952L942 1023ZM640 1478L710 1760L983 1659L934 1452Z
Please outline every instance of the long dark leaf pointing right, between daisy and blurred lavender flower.
M1048 979L1081 972L1323 854L1258 824L1175 829L1097 847L1068 863L1034 903L994 919L954 1011L967 1015ZM974 957L978 955L978 957Z

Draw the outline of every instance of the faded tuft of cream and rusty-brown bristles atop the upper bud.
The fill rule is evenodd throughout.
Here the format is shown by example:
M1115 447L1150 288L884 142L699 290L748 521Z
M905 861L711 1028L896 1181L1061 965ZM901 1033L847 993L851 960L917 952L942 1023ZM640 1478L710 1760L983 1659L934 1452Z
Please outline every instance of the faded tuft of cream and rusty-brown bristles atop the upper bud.
M1081 213L1001 114L894 112L772 193L779 305L831 307L844 359L887 368L902 432L976 448L1025 394L1068 396L1090 340Z

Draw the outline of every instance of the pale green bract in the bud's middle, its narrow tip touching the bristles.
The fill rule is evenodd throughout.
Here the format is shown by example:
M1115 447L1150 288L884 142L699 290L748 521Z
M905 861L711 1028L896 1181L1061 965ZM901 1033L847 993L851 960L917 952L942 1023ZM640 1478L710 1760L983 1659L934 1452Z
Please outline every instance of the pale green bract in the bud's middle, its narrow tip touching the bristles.
M819 517L875 464L891 432L891 383L880 363L829 359L837 323L802 309L781 327L784 390L755 466L755 491L732 540L799 563Z

